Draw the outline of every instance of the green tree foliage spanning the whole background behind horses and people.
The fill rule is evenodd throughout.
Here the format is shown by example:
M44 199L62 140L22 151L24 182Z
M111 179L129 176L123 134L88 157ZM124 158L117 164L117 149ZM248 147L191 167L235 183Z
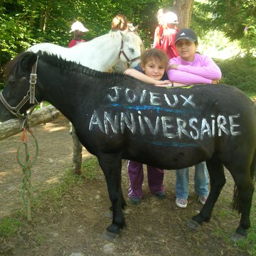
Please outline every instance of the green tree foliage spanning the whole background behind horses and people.
M4 87L3 66L15 55L29 46L50 42L67 46L72 34L71 24L78 20L90 31L85 33L85 40L107 33L112 18L122 13L134 25L139 25L139 35L146 48L151 46L156 27L156 11L161 8L171 9L174 0L119 0L119 1L36 1L2 0L0 2L0 89ZM228 11L226 11L228 10ZM207 26L206 26L207 24ZM256 2L250 0L196 0L193 4L191 27L200 38L206 32L222 31L250 55L256 46ZM223 36L213 42L216 48L223 48Z

